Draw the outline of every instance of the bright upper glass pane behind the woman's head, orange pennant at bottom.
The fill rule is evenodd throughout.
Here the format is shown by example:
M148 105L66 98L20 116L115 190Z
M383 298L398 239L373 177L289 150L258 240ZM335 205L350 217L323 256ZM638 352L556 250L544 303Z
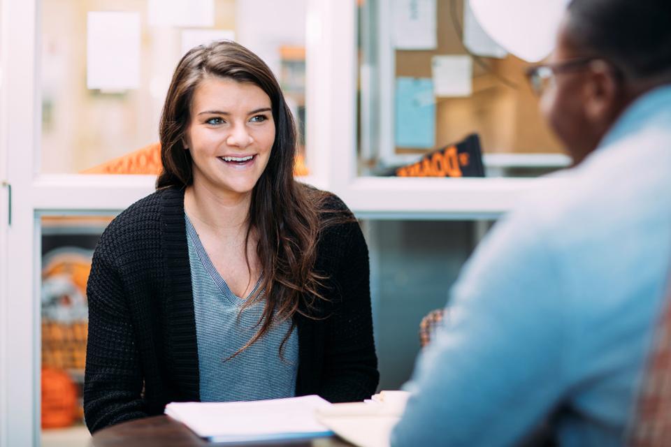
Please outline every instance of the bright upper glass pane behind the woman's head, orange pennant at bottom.
M304 129L305 2L44 0L41 172L157 173L173 70L215 38L273 68Z

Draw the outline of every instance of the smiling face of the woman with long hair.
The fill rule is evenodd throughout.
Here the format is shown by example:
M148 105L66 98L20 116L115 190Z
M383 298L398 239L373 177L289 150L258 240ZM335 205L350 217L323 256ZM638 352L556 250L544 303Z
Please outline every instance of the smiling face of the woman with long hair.
M275 141L270 97L257 85L205 78L194 92L185 147L194 187L224 196L251 193Z

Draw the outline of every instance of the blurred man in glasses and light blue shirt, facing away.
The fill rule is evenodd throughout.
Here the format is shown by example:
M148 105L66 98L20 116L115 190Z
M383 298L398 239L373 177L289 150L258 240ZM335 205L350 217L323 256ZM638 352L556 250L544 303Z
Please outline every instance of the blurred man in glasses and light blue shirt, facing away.
M671 260L671 1L572 1L529 75L576 166L465 266L394 446L521 444L544 420L561 446L626 441Z

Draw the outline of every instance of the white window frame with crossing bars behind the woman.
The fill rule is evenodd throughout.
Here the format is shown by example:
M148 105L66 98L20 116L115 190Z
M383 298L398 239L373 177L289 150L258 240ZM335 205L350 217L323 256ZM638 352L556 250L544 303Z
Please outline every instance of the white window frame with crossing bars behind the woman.
M39 0L0 0L0 447L40 445L40 218L116 213L153 191L152 176L36 174L41 142ZM356 2L308 0L305 179L363 218L493 219L535 179L356 176ZM4 177L1 177L4 176ZM0 207L6 210L6 189Z

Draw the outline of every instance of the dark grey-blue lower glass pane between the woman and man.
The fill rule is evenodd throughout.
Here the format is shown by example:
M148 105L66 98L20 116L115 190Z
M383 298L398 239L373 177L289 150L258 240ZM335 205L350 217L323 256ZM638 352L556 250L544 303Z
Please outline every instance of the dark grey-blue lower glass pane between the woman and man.
M419 323L442 309L488 221L365 221L381 390L410 379Z

